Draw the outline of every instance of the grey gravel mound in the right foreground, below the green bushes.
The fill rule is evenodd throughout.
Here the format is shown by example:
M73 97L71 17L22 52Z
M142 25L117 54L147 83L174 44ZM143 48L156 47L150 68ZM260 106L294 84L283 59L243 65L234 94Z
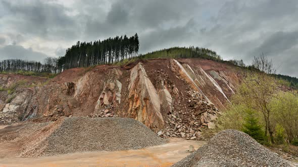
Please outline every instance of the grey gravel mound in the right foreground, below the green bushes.
M237 130L224 130L215 135L208 144L173 166L290 166L290 164L249 135Z

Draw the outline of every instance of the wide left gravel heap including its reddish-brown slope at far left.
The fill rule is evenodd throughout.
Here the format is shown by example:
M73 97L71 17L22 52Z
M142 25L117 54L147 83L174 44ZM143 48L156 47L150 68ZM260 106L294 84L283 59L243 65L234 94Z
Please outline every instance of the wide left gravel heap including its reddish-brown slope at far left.
M167 140L132 118L64 117L55 122L26 122L5 128L0 130L1 141L19 144L21 157L37 157L139 149Z

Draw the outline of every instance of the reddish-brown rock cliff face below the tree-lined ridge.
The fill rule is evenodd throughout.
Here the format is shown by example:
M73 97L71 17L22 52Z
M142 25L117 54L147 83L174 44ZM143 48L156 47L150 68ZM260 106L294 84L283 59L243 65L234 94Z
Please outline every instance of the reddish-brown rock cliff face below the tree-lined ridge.
M198 139L201 128L215 127L241 76L236 66L199 58L72 68L48 80L1 74L0 124L129 117L161 136Z

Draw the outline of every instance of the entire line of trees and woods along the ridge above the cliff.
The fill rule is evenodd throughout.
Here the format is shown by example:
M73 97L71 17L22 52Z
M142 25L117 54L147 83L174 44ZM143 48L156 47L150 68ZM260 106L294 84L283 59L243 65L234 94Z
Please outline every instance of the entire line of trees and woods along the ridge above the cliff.
M137 59L150 58L204 58L214 61L231 63L247 69L257 69L264 71L274 77L286 81L286 85L293 89L298 89L298 78L287 75L275 74L273 71L267 71L268 67L256 66L256 62L264 64L266 60L262 54L260 57L255 57L253 64L246 66L242 60L225 61L217 52L208 48L200 47L171 47L161 49L146 54L138 54L139 38L137 33L131 37L116 36L105 40L97 40L90 42L78 41L75 45L66 49L65 55L59 58L46 57L43 62L28 61L21 59L7 59L0 61L0 72L12 73L60 73L63 70L75 67L88 67L100 64L113 64L117 62L126 63L128 61L135 61ZM127 60L127 61L124 61ZM255 64L255 65L254 65ZM266 63L265 63L266 64ZM272 66L272 62L268 63Z

